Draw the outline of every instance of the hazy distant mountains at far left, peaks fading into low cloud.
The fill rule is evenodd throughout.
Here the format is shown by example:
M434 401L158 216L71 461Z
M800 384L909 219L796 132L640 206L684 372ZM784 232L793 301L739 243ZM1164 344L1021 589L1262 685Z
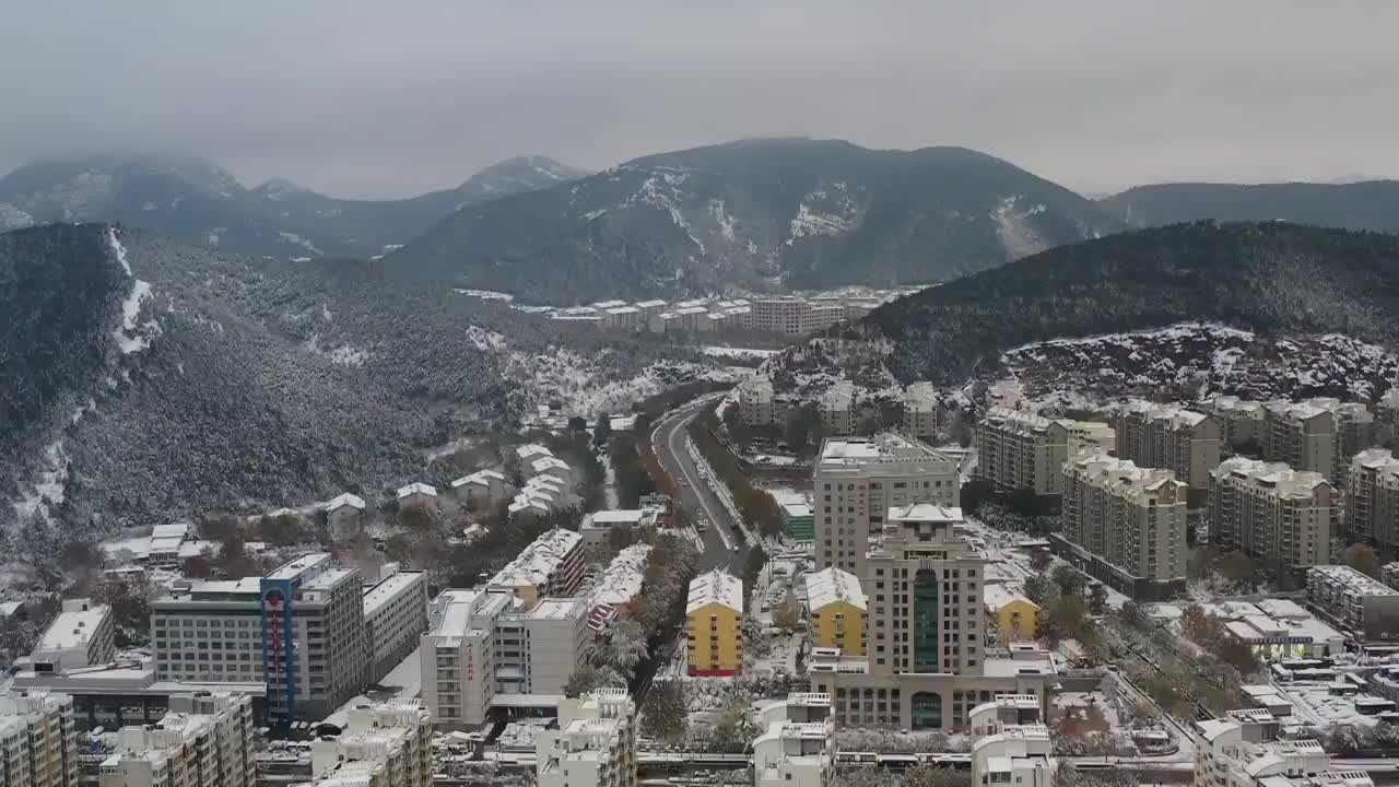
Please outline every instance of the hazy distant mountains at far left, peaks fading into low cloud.
M0 178L0 231L102 221L249 256L365 259L406 244L464 206L582 174L529 155L488 167L455 189L403 200L347 200L284 179L248 189L217 164L187 155L48 158Z

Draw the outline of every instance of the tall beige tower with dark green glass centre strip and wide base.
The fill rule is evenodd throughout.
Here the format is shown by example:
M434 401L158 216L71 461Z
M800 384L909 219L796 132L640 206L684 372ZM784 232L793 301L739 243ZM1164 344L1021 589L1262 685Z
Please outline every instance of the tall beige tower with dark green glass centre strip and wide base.
M809 665L813 689L834 697L838 724L954 731L999 695L1048 702L1058 679L1048 653L983 641L988 559L961 525L960 508L886 511L862 583L866 657L813 657Z

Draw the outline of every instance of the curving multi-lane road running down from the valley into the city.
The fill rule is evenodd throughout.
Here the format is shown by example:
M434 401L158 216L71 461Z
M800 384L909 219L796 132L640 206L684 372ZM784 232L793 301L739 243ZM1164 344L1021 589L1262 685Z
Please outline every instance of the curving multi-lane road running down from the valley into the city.
M705 408L715 406L722 396L722 394L704 396L672 412L652 430L651 444L662 469L680 486L680 506L690 515L690 521L693 522L697 514L704 514L709 520L706 532L698 534L704 543L700 571L725 569L734 577L741 577L751 548L739 535L733 515L709 489L686 450L686 429L690 422L700 417Z

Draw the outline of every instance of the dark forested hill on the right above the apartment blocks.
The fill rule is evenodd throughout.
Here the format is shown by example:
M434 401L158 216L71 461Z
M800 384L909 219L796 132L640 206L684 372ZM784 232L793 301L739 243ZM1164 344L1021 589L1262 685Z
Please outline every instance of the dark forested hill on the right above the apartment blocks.
M1399 335L1399 238L1212 221L1060 246L925 290L867 322L904 379L957 384L1002 351L1191 319L1277 332Z

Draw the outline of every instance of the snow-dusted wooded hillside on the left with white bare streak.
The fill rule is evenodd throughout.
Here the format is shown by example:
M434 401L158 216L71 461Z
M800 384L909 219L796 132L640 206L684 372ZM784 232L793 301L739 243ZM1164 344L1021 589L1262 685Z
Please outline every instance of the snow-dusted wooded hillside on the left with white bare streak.
M99 224L0 234L0 529L378 500L541 403L590 419L709 368L367 262Z

